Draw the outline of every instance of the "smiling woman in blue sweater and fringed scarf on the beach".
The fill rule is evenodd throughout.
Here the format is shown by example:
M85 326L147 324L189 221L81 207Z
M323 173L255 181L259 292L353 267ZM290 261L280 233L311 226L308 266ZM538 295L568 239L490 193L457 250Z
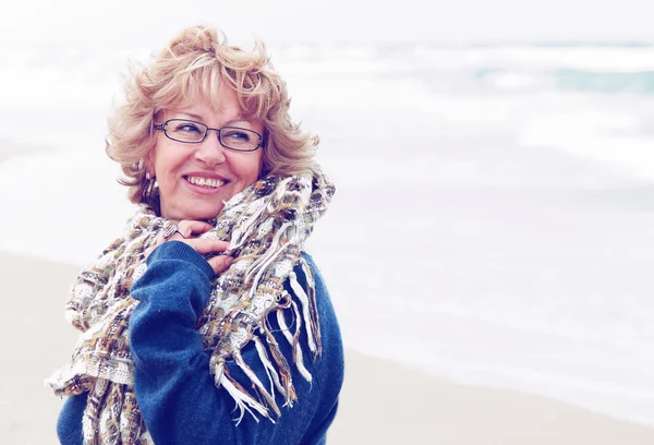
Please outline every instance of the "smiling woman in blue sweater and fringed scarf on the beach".
M72 289L62 444L325 442L342 344L302 246L334 187L288 108L263 45L207 27L128 84L107 152L140 207Z

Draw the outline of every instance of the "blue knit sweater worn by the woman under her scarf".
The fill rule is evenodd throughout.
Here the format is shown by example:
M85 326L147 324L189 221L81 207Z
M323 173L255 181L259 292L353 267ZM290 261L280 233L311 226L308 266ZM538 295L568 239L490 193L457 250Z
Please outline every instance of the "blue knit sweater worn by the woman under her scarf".
M132 287L132 296L141 303L130 320L130 348L136 364L136 399L157 445L325 443L342 385L343 350L323 278L312 257L303 256L315 278L323 341L323 353L314 361L306 334L303 332L300 338L313 383L307 383L292 366L298 394L293 407L280 406L281 417L275 419L275 423L268 419L257 422L245 413L237 425L235 404L227 392L216 388L208 371L210 356L203 350L194 328L209 298L214 272L202 255L182 242L166 242L153 252L147 272ZM300 267L295 274L306 288ZM288 282L286 287L293 296ZM292 320L287 315L287 320ZM269 322L282 352L290 359L291 348L276 317L269 317ZM242 353L259 380L267 382L254 346L246 345ZM228 369L243 387L251 386L240 368L228 363ZM57 434L64 445L82 444L86 397L87 394L80 394L65 400L57 423Z

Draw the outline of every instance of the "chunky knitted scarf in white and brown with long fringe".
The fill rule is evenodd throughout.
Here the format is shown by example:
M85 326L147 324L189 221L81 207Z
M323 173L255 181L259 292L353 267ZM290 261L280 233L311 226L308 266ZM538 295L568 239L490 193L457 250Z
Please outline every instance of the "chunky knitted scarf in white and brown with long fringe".
M296 400L289 362L267 321L272 313L277 313L293 348L294 365L311 382L299 344L300 329L304 326L314 358L320 353L320 332L314 280L301 250L334 191L332 183L317 168L301 176L268 176L226 202L215 228L202 234L229 241L227 253L234 257L231 266L214 278L209 302L196 328L205 350L211 350L208 371L218 390L229 394L240 410L238 421L245 411L255 419L258 413L271 421L270 410L280 416L275 389L284 405L292 406ZM130 296L130 289L147 267L144 252L171 224L174 221L141 206L123 236L82 270L72 287L66 320L82 335L70 361L47 383L60 396L88 392L83 417L85 444L152 443L134 394L128 325L138 301ZM298 264L306 275L307 292L293 273ZM287 279L301 304L295 304L283 289ZM286 323L284 310L294 313L294 332ZM268 384L241 356L250 341L268 373ZM254 392L230 376L228 360L243 370Z

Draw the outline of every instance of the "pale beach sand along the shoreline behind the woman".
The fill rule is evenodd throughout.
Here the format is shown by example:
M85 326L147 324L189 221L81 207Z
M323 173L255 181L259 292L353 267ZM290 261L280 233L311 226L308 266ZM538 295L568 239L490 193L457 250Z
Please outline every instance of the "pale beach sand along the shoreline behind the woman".
M0 444L56 444L62 399L44 380L76 333L63 305L77 267L0 253ZM347 338L346 338L347 342ZM347 352L330 444L653 444L654 429L542 397L455 384Z

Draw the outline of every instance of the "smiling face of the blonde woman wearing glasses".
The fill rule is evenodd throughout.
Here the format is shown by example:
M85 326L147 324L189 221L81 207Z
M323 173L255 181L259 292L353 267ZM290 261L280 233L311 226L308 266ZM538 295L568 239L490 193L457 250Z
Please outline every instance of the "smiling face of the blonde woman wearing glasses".
M217 106L201 98L183 110L157 113L165 122L145 168L157 179L165 218L210 219L259 177L264 124L241 117L233 89L220 88L214 100ZM208 127L189 118L216 128L217 137L207 137ZM227 124L241 127L221 128Z

